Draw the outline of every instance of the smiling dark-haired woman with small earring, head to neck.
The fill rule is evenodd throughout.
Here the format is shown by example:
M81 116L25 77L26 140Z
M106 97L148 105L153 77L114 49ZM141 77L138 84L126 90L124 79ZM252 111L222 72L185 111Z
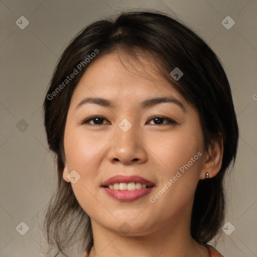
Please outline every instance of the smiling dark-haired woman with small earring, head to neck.
M90 24L62 54L44 111L55 256L75 237L81 256L221 256L208 242L238 127L226 74L192 30L160 12Z

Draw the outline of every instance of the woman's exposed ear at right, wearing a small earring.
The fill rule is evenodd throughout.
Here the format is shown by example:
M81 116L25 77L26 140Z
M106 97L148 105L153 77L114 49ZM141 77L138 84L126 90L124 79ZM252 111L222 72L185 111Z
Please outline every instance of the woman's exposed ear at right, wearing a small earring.
M220 171L223 158L223 138L221 134L217 136L208 150L209 155L208 153L205 154L200 179L205 179L206 173L209 174L209 178L212 178Z

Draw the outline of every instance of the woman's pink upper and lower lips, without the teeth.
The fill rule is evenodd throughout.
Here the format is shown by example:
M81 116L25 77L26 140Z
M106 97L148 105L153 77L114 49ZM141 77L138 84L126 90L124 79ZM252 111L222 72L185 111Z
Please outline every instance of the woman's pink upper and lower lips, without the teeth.
M142 189L135 189L135 190L114 190L110 189L106 186L113 185L115 183L141 183L148 186L148 188L142 188ZM115 200L122 201L122 202L130 202L137 200L144 195L149 194L155 184L147 179L144 179L140 176L123 176L123 175L115 175L109 179L107 179L101 187L105 190L107 195L112 197Z

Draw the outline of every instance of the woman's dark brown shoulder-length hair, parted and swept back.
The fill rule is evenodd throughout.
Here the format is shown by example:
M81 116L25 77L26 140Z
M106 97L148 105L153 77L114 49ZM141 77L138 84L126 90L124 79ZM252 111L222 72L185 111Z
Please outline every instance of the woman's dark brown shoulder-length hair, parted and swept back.
M88 25L71 41L55 68L44 101L47 140L58 171L57 192L45 217L47 240L57 245L56 255L65 254L65 246L72 244L82 228L81 247L89 252L93 245L90 218L77 202L71 184L62 178L63 138L71 96L81 75L94 60L117 49L132 56L141 50L155 58L160 74L198 110L207 152L219 135L223 138L222 167L213 178L199 181L192 209L191 236L206 245L222 225L223 177L236 157L238 126L230 86L219 59L204 40L178 20L152 11L125 12ZM90 62L85 61L92 56ZM176 67L183 72L178 81L170 75ZM75 69L78 74L66 81Z

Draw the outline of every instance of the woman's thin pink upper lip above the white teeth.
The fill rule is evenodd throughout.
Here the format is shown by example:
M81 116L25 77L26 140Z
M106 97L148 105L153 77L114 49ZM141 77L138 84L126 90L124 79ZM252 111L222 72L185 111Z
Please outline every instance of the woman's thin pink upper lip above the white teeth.
M141 183L147 186L155 186L155 183L137 175L133 175L133 176L115 175L105 180L101 186L104 187L104 186L113 185L115 183L131 183L131 182Z

